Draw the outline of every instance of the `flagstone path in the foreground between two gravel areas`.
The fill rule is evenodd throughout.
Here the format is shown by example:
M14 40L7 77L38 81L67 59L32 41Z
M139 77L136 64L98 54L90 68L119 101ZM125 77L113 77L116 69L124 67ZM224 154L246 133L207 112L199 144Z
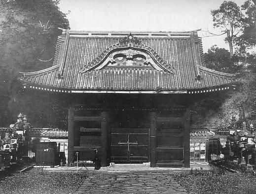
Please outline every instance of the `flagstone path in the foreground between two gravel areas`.
M171 172L87 171L87 175L76 194L186 194Z

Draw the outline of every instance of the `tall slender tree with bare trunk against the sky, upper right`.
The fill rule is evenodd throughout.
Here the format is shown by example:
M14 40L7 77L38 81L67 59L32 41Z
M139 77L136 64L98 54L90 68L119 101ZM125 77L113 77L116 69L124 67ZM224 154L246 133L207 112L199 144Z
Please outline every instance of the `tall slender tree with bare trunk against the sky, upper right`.
M233 42L235 37L244 27L244 15L240 7L233 1L224 1L219 9L211 11L215 28L220 28L227 34L225 41L228 42L230 58L233 57Z

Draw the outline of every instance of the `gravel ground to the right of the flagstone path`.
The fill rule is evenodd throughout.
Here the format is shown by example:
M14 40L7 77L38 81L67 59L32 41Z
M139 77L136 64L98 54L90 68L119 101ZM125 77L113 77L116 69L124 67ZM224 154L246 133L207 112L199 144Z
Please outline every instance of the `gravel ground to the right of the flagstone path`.
M175 180L190 194L256 194L256 175L224 172L174 174Z

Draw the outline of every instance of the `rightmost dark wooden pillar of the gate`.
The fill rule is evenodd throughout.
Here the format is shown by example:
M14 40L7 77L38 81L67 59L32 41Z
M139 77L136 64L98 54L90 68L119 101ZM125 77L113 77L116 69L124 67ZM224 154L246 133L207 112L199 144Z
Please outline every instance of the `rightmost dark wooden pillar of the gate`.
M190 167L190 110L186 109L183 117L184 167Z

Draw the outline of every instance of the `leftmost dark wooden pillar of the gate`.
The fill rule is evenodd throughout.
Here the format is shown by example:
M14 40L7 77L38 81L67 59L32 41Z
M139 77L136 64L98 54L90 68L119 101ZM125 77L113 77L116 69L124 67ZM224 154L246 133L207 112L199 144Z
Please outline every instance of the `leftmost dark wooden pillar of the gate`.
M74 110L73 107L69 108L68 116L68 130L69 130L69 139L68 139L68 165L72 162L74 155Z

